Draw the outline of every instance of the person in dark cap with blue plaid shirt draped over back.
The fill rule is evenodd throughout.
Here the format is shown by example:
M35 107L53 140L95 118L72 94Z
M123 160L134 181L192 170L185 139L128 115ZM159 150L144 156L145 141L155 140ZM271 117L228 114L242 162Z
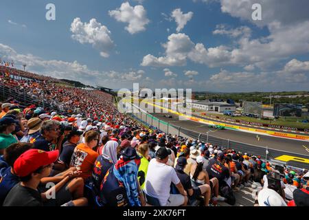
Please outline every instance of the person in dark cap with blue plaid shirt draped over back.
M141 157L130 146L124 148L120 155L102 181L100 201L104 201L104 206L145 206L146 201L137 180Z

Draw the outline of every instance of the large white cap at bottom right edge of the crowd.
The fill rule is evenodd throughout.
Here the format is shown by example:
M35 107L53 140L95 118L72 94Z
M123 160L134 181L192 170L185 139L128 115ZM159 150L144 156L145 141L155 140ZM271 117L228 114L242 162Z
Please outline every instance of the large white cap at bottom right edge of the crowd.
M287 206L284 199L275 190L264 188L258 194L259 206Z

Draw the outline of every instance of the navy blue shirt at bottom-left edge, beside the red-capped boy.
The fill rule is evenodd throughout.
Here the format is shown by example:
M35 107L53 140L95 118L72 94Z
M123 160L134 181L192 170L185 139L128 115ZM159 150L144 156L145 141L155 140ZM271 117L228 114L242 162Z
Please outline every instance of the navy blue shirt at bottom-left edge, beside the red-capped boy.
M11 173L11 167L0 171L0 206L10 190L19 183L19 177Z

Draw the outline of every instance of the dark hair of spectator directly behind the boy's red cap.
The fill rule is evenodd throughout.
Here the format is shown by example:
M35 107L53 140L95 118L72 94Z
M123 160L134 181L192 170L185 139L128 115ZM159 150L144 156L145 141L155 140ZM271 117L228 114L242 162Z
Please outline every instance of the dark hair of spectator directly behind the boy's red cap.
M25 153L25 151L33 148L34 145L30 143L16 143L11 144L8 148L5 148L3 158L9 166L14 166L14 162L20 155Z

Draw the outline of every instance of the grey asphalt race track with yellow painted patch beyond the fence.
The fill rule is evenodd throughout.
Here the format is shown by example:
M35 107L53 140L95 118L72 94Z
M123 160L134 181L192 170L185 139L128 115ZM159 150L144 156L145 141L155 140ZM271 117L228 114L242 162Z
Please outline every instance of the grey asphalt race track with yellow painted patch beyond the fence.
M209 134L209 142L220 139L229 140L231 148L241 149L243 152L250 154L258 154L266 157L266 146L269 161L278 162L279 164L287 164L297 168L309 169L309 142L301 140L291 140L282 137L271 137L267 135L256 135L254 133L246 133L242 131L233 131L229 129L218 130L209 128L207 124L196 122L193 120L179 120L179 115L172 112L168 113L150 113L163 122L168 122L171 126L180 126L187 131L181 131L189 137L196 138L196 133L203 134L203 137ZM171 115L167 118L165 115ZM205 139L205 138L204 138ZM205 140L203 140L205 141ZM215 141L214 141L215 142ZM236 143L238 142L238 143ZM223 145L222 145L223 146Z

